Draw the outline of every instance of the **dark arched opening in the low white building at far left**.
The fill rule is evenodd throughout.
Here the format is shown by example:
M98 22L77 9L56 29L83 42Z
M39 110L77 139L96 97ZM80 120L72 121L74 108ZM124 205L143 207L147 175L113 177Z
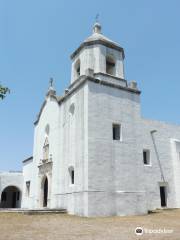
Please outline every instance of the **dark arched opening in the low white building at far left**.
M15 186L6 187L1 193L0 208L20 208L21 192Z

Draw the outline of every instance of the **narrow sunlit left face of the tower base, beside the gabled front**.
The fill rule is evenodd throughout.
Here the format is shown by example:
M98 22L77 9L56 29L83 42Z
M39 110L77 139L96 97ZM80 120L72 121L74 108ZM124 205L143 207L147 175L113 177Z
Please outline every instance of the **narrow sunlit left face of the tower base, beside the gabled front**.
M74 106L74 112L70 111ZM71 214L83 215L87 189L87 86L75 91L60 105L60 157L56 195L59 205ZM69 167L74 167L75 184L70 184Z

